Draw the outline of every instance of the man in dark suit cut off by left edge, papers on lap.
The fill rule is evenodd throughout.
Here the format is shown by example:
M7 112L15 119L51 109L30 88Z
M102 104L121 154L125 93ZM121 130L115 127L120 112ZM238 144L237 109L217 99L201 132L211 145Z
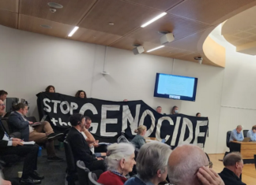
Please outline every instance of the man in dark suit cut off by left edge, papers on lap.
M5 109L5 105L0 100L0 113ZM23 145L21 139L10 138L0 120L0 156L18 155L24 158L23 173L21 183L38 184L43 176L35 170L37 165L37 145ZM6 183L6 182L5 182ZM0 183L1 184L1 183Z

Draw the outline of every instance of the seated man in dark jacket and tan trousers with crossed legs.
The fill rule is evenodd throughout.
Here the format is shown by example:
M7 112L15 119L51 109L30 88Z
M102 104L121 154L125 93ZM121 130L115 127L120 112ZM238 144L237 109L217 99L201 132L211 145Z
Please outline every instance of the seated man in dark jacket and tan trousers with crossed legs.
M55 154L54 140L63 134L56 134L51 128L51 124L44 121L42 124L32 127L32 121L28 121L25 115L28 113L28 105L18 103L13 105L14 112L9 115L8 123L13 131L21 132L21 139L24 141L35 141L45 143L47 149L47 161L62 161L62 158Z

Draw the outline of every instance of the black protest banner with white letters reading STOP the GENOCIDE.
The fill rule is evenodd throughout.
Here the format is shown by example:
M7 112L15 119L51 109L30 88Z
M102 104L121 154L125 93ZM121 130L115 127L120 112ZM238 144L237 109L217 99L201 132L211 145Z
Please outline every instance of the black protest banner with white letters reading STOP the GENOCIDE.
M47 115L55 131L70 128L70 115L81 113L92 119L91 133L100 142L116 142L122 132L132 139L136 135L134 130L143 124L148 128L147 136L166 139L173 148L182 142L205 144L209 125L207 117L162 115L141 100L112 102L58 93L40 93L37 97L40 118Z

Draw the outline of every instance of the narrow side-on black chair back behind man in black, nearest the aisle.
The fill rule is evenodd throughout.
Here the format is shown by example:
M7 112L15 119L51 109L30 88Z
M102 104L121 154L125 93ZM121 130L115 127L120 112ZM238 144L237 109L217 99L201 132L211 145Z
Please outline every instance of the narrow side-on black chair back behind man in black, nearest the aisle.
M73 153L70 147L70 143L66 140L64 141L64 149L66 154L66 181L69 185L74 185L77 181L77 170L73 159Z

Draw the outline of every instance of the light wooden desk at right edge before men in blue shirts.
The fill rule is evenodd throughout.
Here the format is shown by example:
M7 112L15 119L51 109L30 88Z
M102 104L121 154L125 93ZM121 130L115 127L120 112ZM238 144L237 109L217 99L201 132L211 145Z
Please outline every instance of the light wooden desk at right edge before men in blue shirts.
M254 160L254 155L256 154L256 142L232 142L239 144L243 160Z

